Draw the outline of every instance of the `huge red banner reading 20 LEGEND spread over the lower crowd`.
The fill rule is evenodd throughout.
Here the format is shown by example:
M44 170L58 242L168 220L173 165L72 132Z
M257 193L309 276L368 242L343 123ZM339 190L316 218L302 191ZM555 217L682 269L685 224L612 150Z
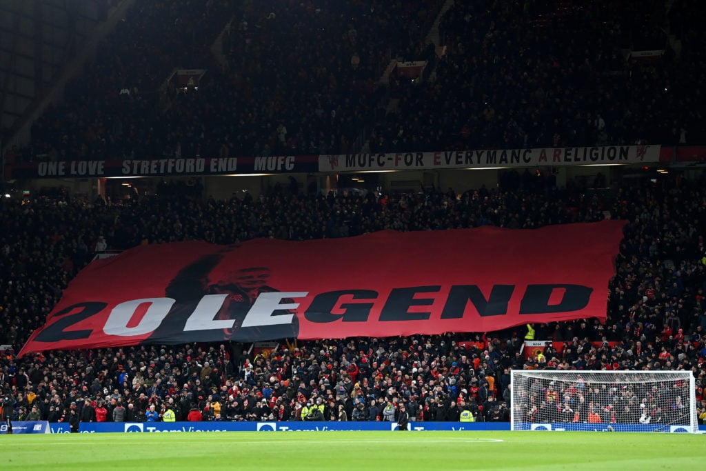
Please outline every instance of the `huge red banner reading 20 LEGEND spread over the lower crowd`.
M624 225L140 246L82 270L20 355L605 318Z

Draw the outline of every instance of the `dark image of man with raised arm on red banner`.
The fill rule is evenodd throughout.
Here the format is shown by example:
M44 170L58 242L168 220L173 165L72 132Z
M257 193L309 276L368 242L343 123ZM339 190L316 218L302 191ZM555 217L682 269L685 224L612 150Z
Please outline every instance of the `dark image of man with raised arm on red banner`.
M295 311L275 311L273 316L294 315L292 322L274 326L241 327L246 314L255 303L259 294L277 292L268 285L270 269L267 267L244 267L234 270L223 270L221 263L231 249L224 249L215 254L207 254L198 258L189 266L182 268L174 279L169 282L165 295L176 302L167 318L150 336L150 342L155 340L173 343L210 342L213 333L182 330L186 320L196 309L198 301L206 294L226 294L215 319L233 320L232 328L223 330L223 340L234 342L252 342L254 340L276 340L282 338L297 338L299 321ZM229 267L227 267L229 268ZM220 273L220 274L217 274ZM216 277L214 279L213 277ZM283 299L283 303L292 303L292 299ZM203 336L203 338L201 338Z

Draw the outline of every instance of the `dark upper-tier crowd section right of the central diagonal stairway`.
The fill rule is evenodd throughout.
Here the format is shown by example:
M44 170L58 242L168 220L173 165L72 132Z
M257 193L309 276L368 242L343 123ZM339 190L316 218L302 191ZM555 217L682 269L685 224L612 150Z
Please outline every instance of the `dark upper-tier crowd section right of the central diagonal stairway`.
M687 18L704 6L664 5L457 1L441 24L436 80L393 82L400 102L375 126L371 151L704 143L692 106L703 97L692 92L704 35ZM679 56L677 30L688 36ZM656 61L626 59L662 49Z

